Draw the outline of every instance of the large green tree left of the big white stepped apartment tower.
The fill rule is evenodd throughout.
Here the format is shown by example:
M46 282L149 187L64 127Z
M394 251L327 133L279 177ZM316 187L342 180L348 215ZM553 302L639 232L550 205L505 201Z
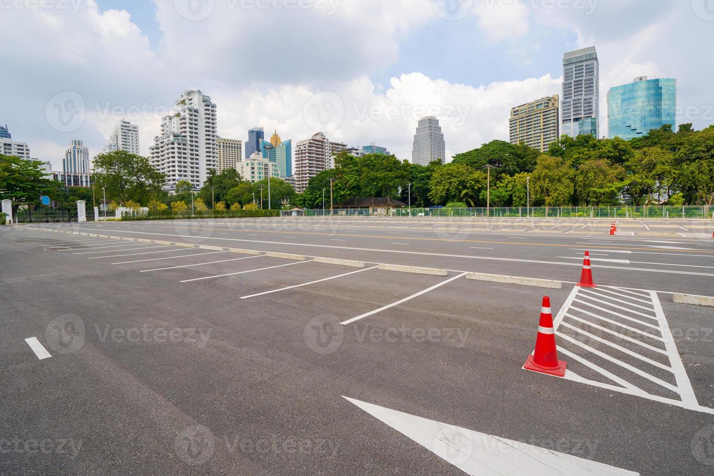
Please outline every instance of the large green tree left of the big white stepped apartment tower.
M94 158L94 184L106 189L107 198L122 203L134 200L149 203L161 196L166 176L149 159L126 151L100 153Z

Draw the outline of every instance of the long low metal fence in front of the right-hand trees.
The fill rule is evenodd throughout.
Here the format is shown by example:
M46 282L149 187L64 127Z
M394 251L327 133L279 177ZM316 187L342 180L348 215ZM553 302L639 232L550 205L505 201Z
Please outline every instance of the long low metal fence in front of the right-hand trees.
M344 208L286 210L281 216L390 216L484 218L711 218L708 206Z

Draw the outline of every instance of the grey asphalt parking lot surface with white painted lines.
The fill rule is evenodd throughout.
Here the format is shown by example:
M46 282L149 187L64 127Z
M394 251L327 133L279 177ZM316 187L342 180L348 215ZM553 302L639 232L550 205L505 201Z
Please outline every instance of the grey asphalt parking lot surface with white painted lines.
M675 304L672 293L714 295L714 222L620 221L614 237L609 226L283 218L0 228L0 472L448 475L480 460L491 468L480 474L529 474L496 469L518 460L522 442L538 462L550 450L611 474L711 474L714 308ZM595 290L573 286L585 250ZM487 283L466 271L565 284ZM544 294L568 361L562 379L521 368ZM482 434L513 441L489 448ZM540 474L607 472L582 471Z

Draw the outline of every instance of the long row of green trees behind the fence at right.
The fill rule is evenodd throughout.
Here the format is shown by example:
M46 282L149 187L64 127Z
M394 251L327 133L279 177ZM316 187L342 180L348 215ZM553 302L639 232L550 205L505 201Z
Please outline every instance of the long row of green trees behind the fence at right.
M486 206L490 185L491 206L526 206L530 183L531 206L711 205L714 126L663 126L631 141L563 136L547 153L491 141L428 166L346 153L335 164L309 181L299 204L321 208L332 182L335 203L373 196L406 203L411 184L413 206Z

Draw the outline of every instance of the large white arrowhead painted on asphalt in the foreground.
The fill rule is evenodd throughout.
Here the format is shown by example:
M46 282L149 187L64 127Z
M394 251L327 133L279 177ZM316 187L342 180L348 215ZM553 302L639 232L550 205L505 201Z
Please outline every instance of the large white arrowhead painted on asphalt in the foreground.
M639 475L600 462L343 398L468 475Z

